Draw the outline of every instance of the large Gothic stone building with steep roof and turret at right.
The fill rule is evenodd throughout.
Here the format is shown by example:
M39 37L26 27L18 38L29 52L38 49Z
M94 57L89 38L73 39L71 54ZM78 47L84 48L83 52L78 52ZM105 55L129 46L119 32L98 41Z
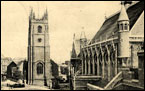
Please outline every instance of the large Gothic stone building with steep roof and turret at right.
M132 79L139 80L135 77L139 62L137 53L143 45L144 1L122 1L121 10L107 17L90 43L81 48L81 74L76 78L82 77L83 83L86 81L84 78L98 79L87 82L92 83L93 87L102 87L96 87L97 89L113 89L122 78L128 82ZM87 86L81 85L84 88ZM104 88L105 86L109 87Z

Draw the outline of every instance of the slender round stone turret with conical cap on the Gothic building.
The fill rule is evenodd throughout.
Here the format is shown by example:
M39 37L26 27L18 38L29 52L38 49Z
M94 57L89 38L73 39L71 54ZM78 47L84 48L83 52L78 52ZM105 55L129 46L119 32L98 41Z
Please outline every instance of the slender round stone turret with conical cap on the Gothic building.
M126 64L130 57L130 46L129 46L129 18L125 9L125 4L121 2L121 12L118 19L119 28L119 52L118 57L121 61Z

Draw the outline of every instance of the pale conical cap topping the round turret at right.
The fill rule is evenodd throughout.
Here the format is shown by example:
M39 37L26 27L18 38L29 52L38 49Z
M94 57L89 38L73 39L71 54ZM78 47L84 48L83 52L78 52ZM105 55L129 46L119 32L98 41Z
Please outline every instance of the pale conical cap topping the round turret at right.
M124 6L124 1L121 1L121 12L118 21L123 21L123 20L129 21L129 18Z

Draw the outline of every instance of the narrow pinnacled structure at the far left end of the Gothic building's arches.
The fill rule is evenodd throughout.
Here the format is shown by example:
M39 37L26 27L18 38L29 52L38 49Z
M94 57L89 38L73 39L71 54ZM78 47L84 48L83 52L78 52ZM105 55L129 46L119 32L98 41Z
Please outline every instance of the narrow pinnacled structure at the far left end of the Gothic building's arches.
M71 74L73 76L75 73L80 70L81 67L81 48L83 48L85 45L87 45L88 40L85 36L85 33L82 32L79 39L76 39L76 36L74 34L73 38L73 44L72 44L72 51L71 51L71 59L70 59L70 66L71 66Z

